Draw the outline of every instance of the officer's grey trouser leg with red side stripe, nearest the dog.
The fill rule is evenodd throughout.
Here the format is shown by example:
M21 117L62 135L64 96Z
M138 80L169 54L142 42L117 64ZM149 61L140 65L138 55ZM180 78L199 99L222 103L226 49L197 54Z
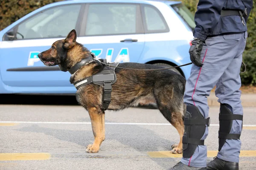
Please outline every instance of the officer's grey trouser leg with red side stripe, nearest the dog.
M201 52L201 60L204 66L199 68L192 65L191 75L186 82L184 102L189 105L187 112L191 112L186 114L188 119L200 118L198 112L201 113L204 119L207 119L209 114L207 96L209 96L210 91L217 84L219 78L224 74L234 57L237 56L241 37L242 34L233 34L207 38L207 45L204 45ZM198 110L195 108L198 108ZM199 140L206 139L208 135L208 127L206 125L192 126L194 126L194 129L186 128L185 125L184 137L186 139L189 136L189 138L197 139L196 142L198 142L198 131L201 135ZM201 134L202 131L204 131L203 134ZM202 143L199 144L200 142L195 144L196 142L195 140L192 142L190 140L183 141L183 158L181 163L173 167L173 169L192 170L189 167L199 167L197 169L206 167L207 147Z

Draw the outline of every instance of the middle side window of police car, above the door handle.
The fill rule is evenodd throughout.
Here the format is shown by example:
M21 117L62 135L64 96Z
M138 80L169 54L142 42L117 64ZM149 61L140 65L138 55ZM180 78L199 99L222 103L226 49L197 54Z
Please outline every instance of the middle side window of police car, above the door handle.
M136 33L136 5L90 4L85 35Z

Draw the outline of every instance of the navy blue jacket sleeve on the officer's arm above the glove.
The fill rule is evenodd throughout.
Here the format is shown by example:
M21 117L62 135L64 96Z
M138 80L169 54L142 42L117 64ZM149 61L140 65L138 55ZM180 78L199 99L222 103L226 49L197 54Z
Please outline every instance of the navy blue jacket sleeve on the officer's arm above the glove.
M206 40L211 29L217 25L221 17L224 0L199 0L195 12L194 37Z

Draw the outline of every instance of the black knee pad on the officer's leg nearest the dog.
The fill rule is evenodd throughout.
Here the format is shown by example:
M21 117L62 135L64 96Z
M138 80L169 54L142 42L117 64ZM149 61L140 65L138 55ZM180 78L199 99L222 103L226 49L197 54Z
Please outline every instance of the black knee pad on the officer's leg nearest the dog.
M204 145L204 140L201 138L204 135L206 125L209 126L209 124L210 119L204 119L196 106L187 105L184 117L185 131L182 139L183 158L190 158L198 145Z

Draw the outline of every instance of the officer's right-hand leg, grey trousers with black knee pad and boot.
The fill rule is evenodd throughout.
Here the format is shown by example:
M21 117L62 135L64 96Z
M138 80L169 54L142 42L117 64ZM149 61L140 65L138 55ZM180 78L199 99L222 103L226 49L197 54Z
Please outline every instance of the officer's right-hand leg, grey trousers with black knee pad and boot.
M218 159L207 165L207 170L238 170L241 141L239 139L242 130L243 108L241 105L241 78L240 67L242 53L245 48L247 32L239 41L238 55L230 63L227 70L216 84L215 94L221 103L220 107L220 135ZM230 135L231 134L231 135ZM219 160L221 159L221 160ZM220 162L221 161L221 162ZM227 161L227 162L225 162Z

